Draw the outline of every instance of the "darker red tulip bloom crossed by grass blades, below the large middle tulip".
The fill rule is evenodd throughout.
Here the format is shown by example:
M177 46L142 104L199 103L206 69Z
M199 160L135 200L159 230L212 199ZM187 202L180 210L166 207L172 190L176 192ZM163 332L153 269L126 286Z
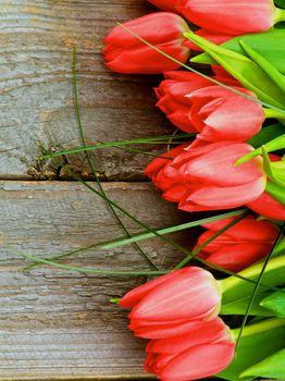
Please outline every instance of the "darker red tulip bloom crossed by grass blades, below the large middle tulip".
M194 250L233 220L227 218L202 224L208 230L200 235ZM209 243L198 256L223 269L238 272L270 253L278 231L274 223L248 216Z

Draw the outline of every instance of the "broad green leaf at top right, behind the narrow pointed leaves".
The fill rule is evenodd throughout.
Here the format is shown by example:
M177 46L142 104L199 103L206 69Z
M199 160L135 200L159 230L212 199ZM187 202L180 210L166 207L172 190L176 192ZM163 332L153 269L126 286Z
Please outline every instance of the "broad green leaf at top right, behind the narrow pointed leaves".
M284 1L284 0L281 0ZM221 47L243 53L239 46L240 36L223 42ZM243 41L264 57L276 70L285 74L285 30L272 29L263 33L243 35ZM191 59L191 62L214 64L215 61L208 54L202 53Z

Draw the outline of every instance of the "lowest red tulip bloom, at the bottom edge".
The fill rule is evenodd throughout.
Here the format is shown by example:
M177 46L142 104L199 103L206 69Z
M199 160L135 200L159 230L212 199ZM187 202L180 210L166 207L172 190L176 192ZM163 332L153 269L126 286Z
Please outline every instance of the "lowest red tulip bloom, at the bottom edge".
M152 340L145 369L162 381L189 381L223 370L233 360L235 343L220 318L183 335Z

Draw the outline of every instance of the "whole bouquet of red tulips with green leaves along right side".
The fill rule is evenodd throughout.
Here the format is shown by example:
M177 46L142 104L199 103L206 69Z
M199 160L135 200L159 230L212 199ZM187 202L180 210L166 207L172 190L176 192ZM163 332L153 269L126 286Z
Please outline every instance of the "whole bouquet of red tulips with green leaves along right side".
M149 340L144 367L160 380L284 380L285 10L273 0L149 1L162 11L115 26L103 50L114 72L163 74L157 106L186 133L145 174L184 211L245 208L202 224L189 258L119 304ZM186 266L195 255L208 270Z

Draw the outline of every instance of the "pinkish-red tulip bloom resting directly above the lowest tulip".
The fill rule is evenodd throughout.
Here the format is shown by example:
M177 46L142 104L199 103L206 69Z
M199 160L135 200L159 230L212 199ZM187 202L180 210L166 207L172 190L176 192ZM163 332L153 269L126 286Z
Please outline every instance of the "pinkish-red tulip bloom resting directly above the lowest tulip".
M188 267L131 291L119 304L133 308L129 329L137 336L171 337L214 319L221 288L209 271Z

